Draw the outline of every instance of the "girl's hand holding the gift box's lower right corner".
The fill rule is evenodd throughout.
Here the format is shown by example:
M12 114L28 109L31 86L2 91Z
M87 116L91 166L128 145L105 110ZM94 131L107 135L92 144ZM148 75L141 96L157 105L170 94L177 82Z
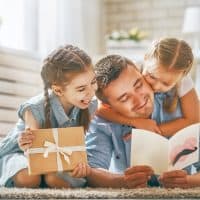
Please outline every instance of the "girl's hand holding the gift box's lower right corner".
M71 173L74 178L83 178L90 174L91 168L86 163L79 163Z

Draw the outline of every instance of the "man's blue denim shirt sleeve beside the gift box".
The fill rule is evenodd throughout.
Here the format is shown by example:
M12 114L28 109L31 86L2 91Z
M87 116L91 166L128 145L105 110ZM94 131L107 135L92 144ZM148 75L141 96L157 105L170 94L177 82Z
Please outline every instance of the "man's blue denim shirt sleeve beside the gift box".
M98 124L98 125L97 125ZM101 124L95 117L86 133L86 149L89 165L93 168L109 169L113 144L109 125Z

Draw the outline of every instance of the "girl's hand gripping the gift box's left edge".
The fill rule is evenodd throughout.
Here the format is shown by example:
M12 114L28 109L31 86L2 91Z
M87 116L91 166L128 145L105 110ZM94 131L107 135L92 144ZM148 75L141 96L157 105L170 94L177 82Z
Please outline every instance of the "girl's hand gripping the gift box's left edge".
M34 135L31 130L28 128L20 134L18 137L18 145L22 151L26 151L32 146Z

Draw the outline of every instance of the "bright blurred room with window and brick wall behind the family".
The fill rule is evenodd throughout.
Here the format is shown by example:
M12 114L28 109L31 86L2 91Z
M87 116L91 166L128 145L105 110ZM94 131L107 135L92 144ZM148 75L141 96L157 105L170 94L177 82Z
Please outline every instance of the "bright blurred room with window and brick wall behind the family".
M41 60L66 43L94 62L110 53L141 62L153 40L183 38L193 48L199 92L199 23L200 0L0 0L0 127L42 90Z

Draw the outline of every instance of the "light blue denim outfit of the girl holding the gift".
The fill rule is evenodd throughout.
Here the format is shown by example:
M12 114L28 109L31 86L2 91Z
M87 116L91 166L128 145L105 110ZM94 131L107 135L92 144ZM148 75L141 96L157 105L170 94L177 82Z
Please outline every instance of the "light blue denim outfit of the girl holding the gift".
M51 123L52 128L62 128L69 126L78 126L78 117L80 109L74 107L70 115L66 115L60 101L54 93L50 94L51 104ZM92 114L97 107L97 100L94 99L90 106L89 111ZM9 132L9 134L0 141L0 186L13 186L12 177L20 170L27 168L27 158L20 150L17 139L19 134L25 129L25 123L23 119L24 112L29 109L35 120L38 122L41 128L44 128L44 95L40 94L35 96L25 103L23 103L19 110L19 120L16 126ZM68 181L72 187L79 187L85 184L83 179L73 179L66 173L59 173L63 179Z

